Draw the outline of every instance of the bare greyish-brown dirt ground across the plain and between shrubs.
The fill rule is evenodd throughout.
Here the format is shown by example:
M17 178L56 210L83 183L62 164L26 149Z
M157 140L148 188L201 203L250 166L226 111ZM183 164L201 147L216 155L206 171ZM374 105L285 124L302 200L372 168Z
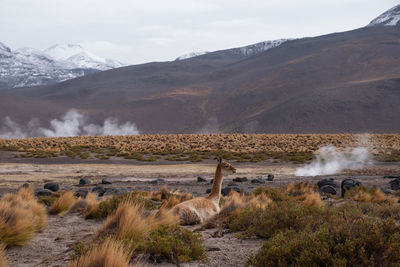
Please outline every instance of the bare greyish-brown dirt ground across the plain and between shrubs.
M333 178L339 184L345 178L354 178L367 186L389 188L390 179L385 175L400 175L400 163L374 163L359 170L316 177L295 177L300 165L289 163L233 163L237 173L224 179L223 187L236 186L250 192L259 186L281 187L293 182L310 181L316 183L322 178ZM73 160L58 159L15 159L11 152L0 152L0 195L17 191L24 183L30 183L37 190L45 182L57 182L63 190L91 190L103 178L113 184L102 185L123 192L133 190L157 190L166 185L169 189L190 192L195 196L204 195L211 188L216 163L207 160L200 163L140 163L130 160ZM267 181L268 174L274 174L273 181ZM202 176L207 182L197 182ZM248 182L233 183L232 178L247 177ZM81 178L91 180L90 185L79 186ZM150 183L163 179L156 184ZM253 178L261 178L263 184L251 183ZM97 220L85 220L76 214L49 216L46 228L38 233L26 246L6 250L9 266L66 266L73 244L90 240L102 224ZM213 237L215 229L202 231L207 249L208 262L190 262L181 266L243 266L251 253L257 252L262 244L259 239L237 239L234 234ZM175 266L161 263L147 266Z

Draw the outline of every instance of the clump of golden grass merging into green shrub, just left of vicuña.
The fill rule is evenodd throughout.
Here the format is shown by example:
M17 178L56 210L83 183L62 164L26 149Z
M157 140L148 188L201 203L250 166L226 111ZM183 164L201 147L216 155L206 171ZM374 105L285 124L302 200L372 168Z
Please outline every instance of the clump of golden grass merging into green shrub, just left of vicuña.
M179 226L179 218L168 210L149 212L139 204L121 203L97 232L95 242L115 238L130 245L135 254L151 255L179 263L204 259L201 234Z

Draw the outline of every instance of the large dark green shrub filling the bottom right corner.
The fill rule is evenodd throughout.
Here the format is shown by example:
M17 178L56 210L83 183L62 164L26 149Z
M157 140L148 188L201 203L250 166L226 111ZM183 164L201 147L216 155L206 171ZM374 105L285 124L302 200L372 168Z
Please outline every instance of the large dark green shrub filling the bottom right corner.
M332 222L331 222L332 223ZM335 217L335 224L315 231L278 232L265 242L252 266L398 266L400 226L393 220L349 220Z

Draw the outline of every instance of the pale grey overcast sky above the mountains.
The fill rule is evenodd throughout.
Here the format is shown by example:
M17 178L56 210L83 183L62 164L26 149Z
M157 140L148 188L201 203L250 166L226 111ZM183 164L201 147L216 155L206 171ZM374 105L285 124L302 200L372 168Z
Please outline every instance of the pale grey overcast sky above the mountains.
M0 0L11 49L79 43L136 64L359 28L399 0Z

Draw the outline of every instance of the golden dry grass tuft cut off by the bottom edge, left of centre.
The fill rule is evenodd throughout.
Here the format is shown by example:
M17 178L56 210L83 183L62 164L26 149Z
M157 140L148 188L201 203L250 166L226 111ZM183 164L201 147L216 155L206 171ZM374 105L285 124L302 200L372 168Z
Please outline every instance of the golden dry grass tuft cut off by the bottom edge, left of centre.
M70 267L128 267L129 250L118 241L107 239L69 263Z

